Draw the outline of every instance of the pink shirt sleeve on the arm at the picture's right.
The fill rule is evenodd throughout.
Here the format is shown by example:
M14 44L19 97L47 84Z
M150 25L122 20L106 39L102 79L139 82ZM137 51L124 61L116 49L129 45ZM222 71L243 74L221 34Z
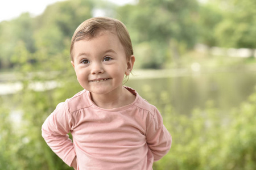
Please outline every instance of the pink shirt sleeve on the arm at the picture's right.
M171 148L172 137L163 125L163 118L158 109L154 109L151 120L147 125L146 140L147 145L154 155L154 162L160 160Z

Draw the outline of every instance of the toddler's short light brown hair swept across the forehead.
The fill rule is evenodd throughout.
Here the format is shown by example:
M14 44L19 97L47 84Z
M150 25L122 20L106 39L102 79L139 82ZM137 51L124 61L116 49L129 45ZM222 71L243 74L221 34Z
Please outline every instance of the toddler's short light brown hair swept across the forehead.
M71 39L70 57L73 60L73 46L76 41L90 40L97 36L100 31L110 31L116 33L119 41L125 49L127 57L133 55L133 46L129 32L122 22L109 17L94 17L82 22L73 34Z

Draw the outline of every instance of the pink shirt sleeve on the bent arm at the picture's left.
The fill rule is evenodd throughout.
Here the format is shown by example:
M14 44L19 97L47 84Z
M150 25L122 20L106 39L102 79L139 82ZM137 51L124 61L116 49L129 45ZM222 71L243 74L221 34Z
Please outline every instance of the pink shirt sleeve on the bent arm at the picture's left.
M71 128L72 121L67 102L58 104L42 125L42 137L47 145L69 166L76 156L73 143L68 136Z

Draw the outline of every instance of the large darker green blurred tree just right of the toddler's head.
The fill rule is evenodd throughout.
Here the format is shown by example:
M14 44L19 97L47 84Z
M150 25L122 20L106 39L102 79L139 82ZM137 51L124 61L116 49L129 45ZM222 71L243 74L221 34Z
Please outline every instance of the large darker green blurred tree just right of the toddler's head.
M141 0L137 5L119 8L118 14L131 31L134 46L150 44L152 53L143 59L155 62L155 56L162 55L159 56L161 62L152 65L160 68L170 61L170 56L178 62L182 49L192 48L195 44L197 10L197 1Z

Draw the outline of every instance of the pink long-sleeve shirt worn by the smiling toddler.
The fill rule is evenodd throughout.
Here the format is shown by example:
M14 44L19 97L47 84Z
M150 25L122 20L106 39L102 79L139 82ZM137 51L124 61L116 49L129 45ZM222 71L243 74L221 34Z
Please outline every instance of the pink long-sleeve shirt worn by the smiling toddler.
M42 126L48 146L69 166L76 156L77 169L152 169L171 135L158 109L126 88L136 99L121 108L97 107L86 90L57 105Z

